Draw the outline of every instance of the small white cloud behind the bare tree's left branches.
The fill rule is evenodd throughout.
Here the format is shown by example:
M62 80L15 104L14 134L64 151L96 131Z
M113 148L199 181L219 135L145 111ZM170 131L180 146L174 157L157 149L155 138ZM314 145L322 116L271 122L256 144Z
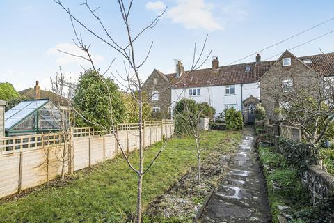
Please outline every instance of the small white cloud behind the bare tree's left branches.
M84 66L89 63L89 61L86 61L85 59L59 52L58 49L63 52L68 52L70 54L79 55L79 56L86 56L86 54L74 44L58 43L55 47L47 49L47 55L56 56L56 63L59 66L64 66L67 64L71 64L71 63L77 63L78 65ZM93 58L94 63L100 63L101 61L104 60L104 57L100 56L99 54L93 54L92 58Z

